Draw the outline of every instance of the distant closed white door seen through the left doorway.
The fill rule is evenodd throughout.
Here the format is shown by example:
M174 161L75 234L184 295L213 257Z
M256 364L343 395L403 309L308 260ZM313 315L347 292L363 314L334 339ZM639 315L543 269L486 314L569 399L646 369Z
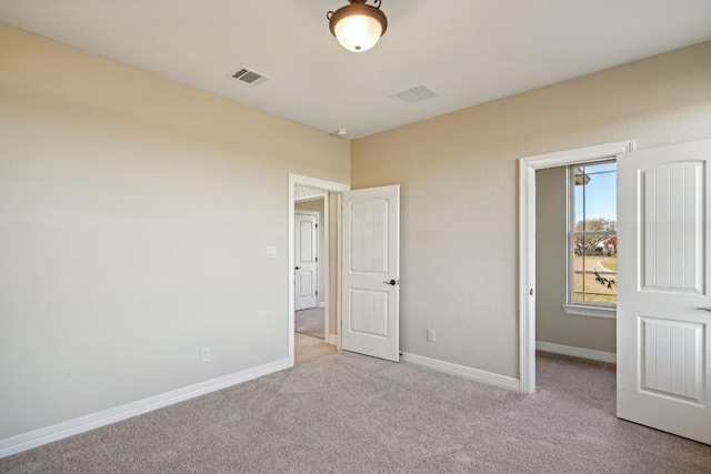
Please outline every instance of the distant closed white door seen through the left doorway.
M294 215L294 310L316 307L318 300L318 216Z

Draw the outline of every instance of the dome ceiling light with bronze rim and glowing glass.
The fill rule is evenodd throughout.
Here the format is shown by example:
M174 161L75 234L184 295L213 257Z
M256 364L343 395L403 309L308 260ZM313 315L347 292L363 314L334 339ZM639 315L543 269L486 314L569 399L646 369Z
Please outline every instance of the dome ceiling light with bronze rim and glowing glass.
M348 0L351 4L329 11L329 28L343 48L353 52L368 51L388 29L388 18L380 11L380 0Z

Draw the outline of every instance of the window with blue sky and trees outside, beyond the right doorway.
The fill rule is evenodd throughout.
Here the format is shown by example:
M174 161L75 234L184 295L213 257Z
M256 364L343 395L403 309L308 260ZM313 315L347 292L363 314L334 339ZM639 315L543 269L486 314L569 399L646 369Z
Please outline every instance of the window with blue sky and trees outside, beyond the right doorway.
M574 164L570 179L568 225L568 306L611 316L618 301L617 162Z

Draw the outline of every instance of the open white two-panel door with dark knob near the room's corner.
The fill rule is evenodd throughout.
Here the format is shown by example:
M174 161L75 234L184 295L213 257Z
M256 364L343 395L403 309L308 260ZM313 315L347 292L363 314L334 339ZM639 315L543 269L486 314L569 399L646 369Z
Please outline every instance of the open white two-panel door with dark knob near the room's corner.
M400 360L400 186L343 192L342 349Z

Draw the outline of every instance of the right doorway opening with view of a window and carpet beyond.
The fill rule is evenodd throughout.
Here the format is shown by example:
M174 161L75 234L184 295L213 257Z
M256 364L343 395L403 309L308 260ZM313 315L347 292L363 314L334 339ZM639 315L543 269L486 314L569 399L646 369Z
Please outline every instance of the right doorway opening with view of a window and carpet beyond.
M617 162L535 172L537 389L615 416Z

